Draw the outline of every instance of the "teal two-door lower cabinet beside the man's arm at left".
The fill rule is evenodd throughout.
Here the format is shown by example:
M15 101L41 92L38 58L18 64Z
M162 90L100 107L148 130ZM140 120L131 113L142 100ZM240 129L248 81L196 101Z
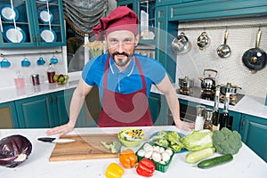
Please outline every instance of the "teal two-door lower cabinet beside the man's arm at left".
M20 128L44 128L69 121L69 103L74 89L15 101ZM85 119L82 109L78 120Z

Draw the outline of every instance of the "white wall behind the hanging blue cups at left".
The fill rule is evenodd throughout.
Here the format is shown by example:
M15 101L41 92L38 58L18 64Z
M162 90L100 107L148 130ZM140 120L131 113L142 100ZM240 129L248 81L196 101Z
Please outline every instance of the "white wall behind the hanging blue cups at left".
M9 68L0 68L0 88L8 88L14 87L14 78L17 77L17 71L20 70L20 74L22 74L26 79L26 85L30 85L30 76L32 74L40 75L40 82L47 82L46 70L48 69L48 65L50 63L50 59L53 55L58 59L58 63L54 64L54 68L56 73L58 74L66 74L66 61L63 60L61 47L53 47L53 48L27 48L27 49L0 49L0 53L4 54L4 56L0 57L2 61L6 58L11 62L11 67ZM44 58L45 64L42 66L38 66L36 61L38 58L42 56ZM29 67L21 67L20 62L24 59L28 58L28 61L31 62Z

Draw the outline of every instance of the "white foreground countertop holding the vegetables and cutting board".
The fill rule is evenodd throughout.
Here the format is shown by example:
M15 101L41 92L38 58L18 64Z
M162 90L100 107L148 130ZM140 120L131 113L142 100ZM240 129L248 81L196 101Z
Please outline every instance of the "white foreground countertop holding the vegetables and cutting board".
M174 130L182 134L188 134L175 126L153 126L141 127L145 132L143 142L148 142L150 134L160 130ZM70 134L99 134L110 133L117 134L122 128L76 128ZM49 162L49 157L55 146L54 143L39 142L38 137L45 136L46 129L2 129L0 130L0 138L12 134L21 134L28 138L33 145L33 150L28 159L20 166L8 168L0 166L1 178L18 178L18 177L37 177L37 178L53 178L53 177L105 177L104 173L110 163L119 164L118 158L106 159L91 159L80 161L60 161ZM139 147L133 148L134 151ZM123 147L123 150L125 148ZM239 153L234 155L233 160L223 166L215 166L210 169L199 169L192 164L185 162L185 155L188 152L176 153L172 163L168 167L166 173L156 171L153 177L198 177L198 178L266 178L267 164L262 158L259 158L255 152L250 150L245 144L239 150ZM213 157L219 156L215 153ZM125 169L123 177L140 177L136 174L135 169Z

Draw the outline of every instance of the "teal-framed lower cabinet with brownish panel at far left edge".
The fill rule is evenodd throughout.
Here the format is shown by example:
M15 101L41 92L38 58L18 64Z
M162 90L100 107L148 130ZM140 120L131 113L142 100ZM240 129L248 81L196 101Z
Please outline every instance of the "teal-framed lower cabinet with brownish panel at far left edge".
M13 101L0 104L0 129L19 128L17 111Z

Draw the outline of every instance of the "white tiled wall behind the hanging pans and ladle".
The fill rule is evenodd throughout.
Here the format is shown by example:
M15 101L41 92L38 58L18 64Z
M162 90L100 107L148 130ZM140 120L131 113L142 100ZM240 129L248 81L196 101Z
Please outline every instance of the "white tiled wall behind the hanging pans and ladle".
M265 27L261 27L262 37L260 40L260 48L266 53L266 16L181 23L179 28L183 28L184 30L180 30L178 33L182 31L185 32L185 35L190 39L192 47L189 53L177 55L176 83L178 84L178 78L189 76L190 78L194 78L195 85L200 86L201 81L198 77L203 77L204 69L215 69L218 71L216 77L217 84L226 85L227 82L231 82L232 85L242 87L242 90L239 91L239 93L265 98L267 93L267 67L252 74L241 61L243 53L248 49L255 47L258 27L246 27L246 25L251 24L265 24ZM244 25L244 27L231 28L231 25ZM223 28L221 26L223 26ZM231 46L231 56L222 59L217 55L216 48L220 44L223 44L224 27L226 26L230 27L227 28L229 32L227 44ZM210 44L205 50L199 50L197 38L203 31L206 31L207 36L209 36Z

